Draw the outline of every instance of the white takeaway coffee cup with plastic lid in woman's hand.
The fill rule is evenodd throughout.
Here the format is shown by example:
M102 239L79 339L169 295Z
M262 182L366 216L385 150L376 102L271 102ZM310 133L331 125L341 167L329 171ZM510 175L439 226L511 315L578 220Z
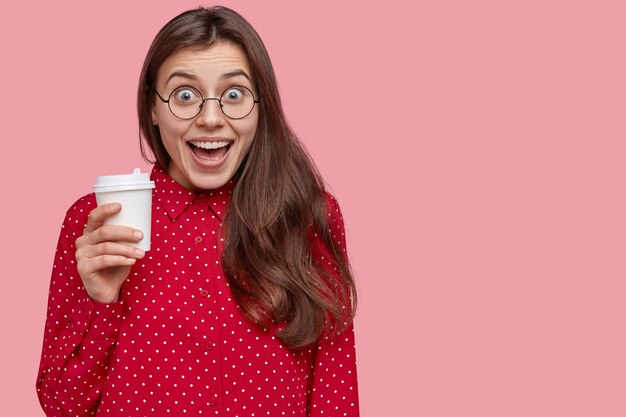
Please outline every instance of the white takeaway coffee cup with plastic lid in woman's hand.
M142 174L135 168L128 175L106 175L96 177L93 191L98 205L120 203L122 211L109 217L104 224L130 226L141 230L143 239L134 246L150 250L150 232L152 225L152 189L154 181L149 174Z

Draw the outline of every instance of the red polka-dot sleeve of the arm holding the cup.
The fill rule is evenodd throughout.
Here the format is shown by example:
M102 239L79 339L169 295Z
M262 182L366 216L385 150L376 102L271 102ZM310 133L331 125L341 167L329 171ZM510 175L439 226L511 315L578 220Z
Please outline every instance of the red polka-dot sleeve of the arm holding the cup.
M123 301L94 302L76 269L74 242L95 206L93 195L77 201L59 236L37 376L48 417L95 415L122 321Z

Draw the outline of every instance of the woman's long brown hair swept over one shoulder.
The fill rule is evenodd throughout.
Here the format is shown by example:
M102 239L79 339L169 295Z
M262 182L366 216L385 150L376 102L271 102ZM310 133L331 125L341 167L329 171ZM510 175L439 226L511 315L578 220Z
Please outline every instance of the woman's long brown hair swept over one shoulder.
M256 135L235 174L224 218L224 273L250 320L265 328L276 323L284 344L302 348L349 325L356 308L354 279L329 232L324 182L285 119L269 55L238 13L225 7L189 10L157 34L139 81L141 151L146 160L169 166L151 118L159 67L182 48L219 41L244 49L260 96Z

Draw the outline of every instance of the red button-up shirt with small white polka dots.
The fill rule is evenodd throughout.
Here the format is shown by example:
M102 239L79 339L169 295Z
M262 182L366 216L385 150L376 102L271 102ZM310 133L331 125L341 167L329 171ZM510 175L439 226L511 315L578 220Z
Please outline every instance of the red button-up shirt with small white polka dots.
M221 268L233 184L190 193L154 168L152 247L120 301L89 298L74 242L93 194L67 212L54 261L37 393L47 416L358 416L354 333L292 351L249 322ZM345 250L328 197L330 232Z

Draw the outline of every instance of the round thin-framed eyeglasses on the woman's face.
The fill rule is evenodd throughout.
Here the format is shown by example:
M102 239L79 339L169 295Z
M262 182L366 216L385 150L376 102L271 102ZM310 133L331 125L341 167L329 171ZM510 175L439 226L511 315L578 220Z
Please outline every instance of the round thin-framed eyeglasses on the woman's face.
M254 104L259 100L254 98L254 94L248 87L233 85L228 87L219 97L202 97L202 93L196 88L182 86L176 88L165 100L158 91L154 90L163 103L167 103L170 112L179 119L193 119L202 111L204 102L207 100L217 100L222 113L229 119L243 119L254 108Z

